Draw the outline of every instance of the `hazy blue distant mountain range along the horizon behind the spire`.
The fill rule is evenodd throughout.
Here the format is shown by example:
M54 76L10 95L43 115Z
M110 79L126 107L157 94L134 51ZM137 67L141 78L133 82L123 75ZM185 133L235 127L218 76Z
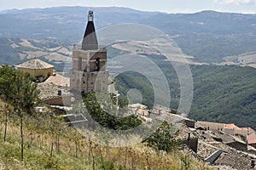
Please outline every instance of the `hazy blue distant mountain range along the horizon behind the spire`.
M0 11L0 37L79 42L88 7L29 8ZM96 29L120 23L154 26L170 35L195 61L224 62L224 57L256 52L256 14L202 11L195 14L143 12L103 7L95 11Z

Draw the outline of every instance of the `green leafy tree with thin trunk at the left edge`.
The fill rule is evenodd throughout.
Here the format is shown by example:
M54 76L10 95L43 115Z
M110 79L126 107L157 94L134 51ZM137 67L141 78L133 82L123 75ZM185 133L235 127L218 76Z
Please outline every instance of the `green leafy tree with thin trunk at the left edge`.
M20 151L21 161L24 159L23 140L23 114L32 115L33 109L38 105L37 84L20 71L15 71L8 66L0 69L0 94L3 101L12 105L20 117Z

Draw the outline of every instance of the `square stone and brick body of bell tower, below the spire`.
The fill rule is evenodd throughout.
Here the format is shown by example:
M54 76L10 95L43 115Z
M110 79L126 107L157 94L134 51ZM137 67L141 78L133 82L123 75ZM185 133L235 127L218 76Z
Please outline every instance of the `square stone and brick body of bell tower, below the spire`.
M106 50L73 50L73 69L70 75L71 90L81 94L108 91Z

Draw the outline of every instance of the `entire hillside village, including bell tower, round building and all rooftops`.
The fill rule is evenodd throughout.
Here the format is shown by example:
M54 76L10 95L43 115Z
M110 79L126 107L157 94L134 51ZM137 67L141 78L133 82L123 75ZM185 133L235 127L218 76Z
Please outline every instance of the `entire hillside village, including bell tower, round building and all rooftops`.
M87 56L91 56L90 59ZM88 63L90 64L87 65ZM73 49L73 70L70 78L55 74L53 65L37 58L29 59L15 67L28 74L38 84L39 98L49 108L58 108L61 116L67 118L74 116L64 115L75 101L74 94L84 96L95 92L109 93L109 89L113 88L113 84L108 81L106 63L107 51L98 49L93 13L90 11L82 48ZM96 80L98 75L100 80ZM220 169L255 167L256 133L251 127L237 127L234 123L196 122L183 116L183 113L161 105L154 105L150 110L141 104L131 104L128 108L144 123L159 120L177 127L176 138L182 139L185 145L183 152L198 161L207 162ZM71 119L68 123L86 122L84 116L78 116L73 121Z

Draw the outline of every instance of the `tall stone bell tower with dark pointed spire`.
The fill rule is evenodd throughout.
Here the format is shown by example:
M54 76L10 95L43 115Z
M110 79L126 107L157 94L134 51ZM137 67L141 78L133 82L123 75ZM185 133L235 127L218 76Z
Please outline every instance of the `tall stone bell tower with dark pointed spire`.
M108 71L106 71L107 50L99 48L93 21L93 11L89 11L88 23L82 46L73 49L73 68L70 75L70 89L82 95L108 91Z

